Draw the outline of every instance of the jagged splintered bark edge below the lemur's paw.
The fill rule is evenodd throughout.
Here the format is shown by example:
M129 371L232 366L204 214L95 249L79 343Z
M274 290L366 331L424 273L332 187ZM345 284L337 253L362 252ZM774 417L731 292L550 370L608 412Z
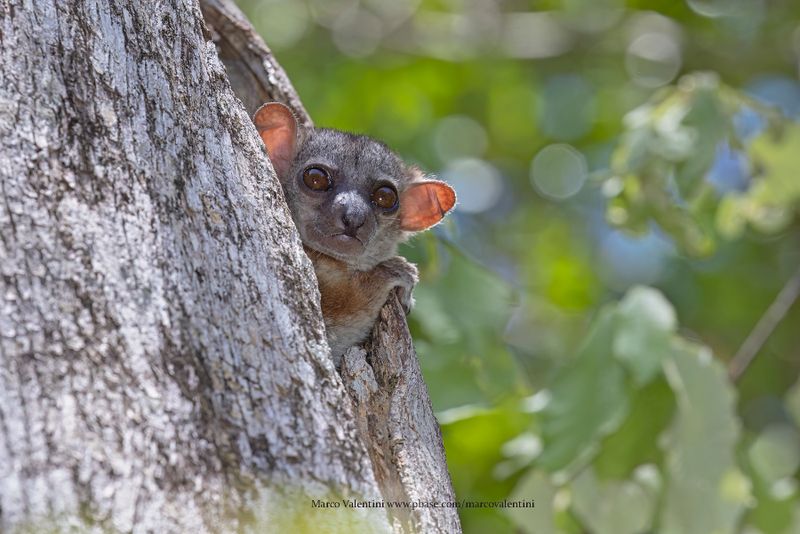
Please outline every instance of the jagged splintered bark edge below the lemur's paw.
M439 423L395 297L381 310L367 350L345 354L341 374L383 498L455 501ZM455 508L392 509L389 517L396 532L461 532Z

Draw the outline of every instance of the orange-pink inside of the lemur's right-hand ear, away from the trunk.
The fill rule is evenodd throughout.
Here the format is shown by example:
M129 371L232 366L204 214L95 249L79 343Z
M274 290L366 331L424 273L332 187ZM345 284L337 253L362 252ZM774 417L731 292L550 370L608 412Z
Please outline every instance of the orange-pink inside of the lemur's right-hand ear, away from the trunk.
M444 182L428 180L406 189L400 196L400 228L419 232L442 220L456 203L456 192Z

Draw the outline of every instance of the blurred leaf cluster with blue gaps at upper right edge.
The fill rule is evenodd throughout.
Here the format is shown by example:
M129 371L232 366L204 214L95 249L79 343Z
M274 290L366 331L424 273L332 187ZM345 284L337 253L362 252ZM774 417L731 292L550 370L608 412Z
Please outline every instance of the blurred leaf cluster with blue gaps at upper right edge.
M761 124L769 128L758 133ZM603 184L612 224L647 233L655 221L688 254L708 256L715 233L739 237L748 223L776 233L794 220L800 126L716 74L684 76L625 125Z

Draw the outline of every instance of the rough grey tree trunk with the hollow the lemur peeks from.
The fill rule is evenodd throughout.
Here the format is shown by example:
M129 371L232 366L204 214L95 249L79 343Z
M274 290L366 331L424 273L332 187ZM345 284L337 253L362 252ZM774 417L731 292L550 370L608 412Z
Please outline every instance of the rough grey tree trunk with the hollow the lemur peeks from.
M457 532L311 504L453 495L396 303L333 368L234 90L307 114L204 8L210 31L190 0L0 0L0 531Z

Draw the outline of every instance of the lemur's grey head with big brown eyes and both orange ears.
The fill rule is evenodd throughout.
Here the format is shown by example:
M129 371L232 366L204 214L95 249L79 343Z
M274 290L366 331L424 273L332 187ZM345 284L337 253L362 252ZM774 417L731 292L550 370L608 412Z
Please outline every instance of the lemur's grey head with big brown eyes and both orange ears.
M455 191L383 143L327 128L299 131L277 102L253 118L303 243L361 270L397 253L455 205Z

